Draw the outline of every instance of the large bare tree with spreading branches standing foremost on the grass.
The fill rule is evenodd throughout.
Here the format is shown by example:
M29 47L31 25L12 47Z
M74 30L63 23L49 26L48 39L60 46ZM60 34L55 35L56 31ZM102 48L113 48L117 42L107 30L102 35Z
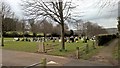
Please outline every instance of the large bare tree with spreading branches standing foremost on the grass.
M72 1L72 0L71 0ZM23 1L26 15L32 18L39 18L46 16L61 25L62 50L65 50L64 41L64 22L70 18L70 10L76 6L71 5L71 1L63 2L62 0L55 0L44 2L43 0Z

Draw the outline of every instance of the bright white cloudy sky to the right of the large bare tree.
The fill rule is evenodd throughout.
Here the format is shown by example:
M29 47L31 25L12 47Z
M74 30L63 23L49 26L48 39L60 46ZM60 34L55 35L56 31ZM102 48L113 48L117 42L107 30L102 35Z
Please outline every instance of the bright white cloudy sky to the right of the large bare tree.
M84 5L87 6L81 9L79 8L79 11L84 12L81 13L81 15L83 15L81 19L98 23L105 28L116 28L119 0L111 0L110 5L104 8L101 8L100 6L95 7L94 3L97 3L99 0L95 0L94 2L90 1L92 0L86 1L86 3L90 3L88 4L89 6L84 3Z

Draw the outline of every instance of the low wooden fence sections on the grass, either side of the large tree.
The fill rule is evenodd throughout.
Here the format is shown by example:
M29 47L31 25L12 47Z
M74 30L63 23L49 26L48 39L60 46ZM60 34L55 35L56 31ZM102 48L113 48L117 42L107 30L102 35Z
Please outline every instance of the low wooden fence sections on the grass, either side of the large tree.
M58 45L58 44L57 44L57 45ZM76 57L79 59L81 55L83 55L83 54L88 54L89 51L91 51L91 50L93 50L93 49L96 49L95 45L96 45L96 44L95 44L95 42L93 41L92 46L91 46L91 45L89 46L89 44L86 43L86 44L84 44L84 46L82 46L82 47L76 47ZM39 50L42 50L41 52L46 53L47 51L49 51L49 50L51 50L51 49L54 49L54 46L55 46L55 45L50 45L50 46L47 45L47 47L45 47L45 44L42 43L42 47L39 47ZM40 49L40 48L42 48L42 49Z

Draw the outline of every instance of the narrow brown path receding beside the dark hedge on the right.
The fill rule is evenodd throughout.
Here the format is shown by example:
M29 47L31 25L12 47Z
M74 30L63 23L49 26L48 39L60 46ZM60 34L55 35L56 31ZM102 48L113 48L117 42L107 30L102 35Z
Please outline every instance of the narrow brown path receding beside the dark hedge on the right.
M99 51L98 54L93 56L90 60L102 63L109 63L111 65L118 65L118 60L113 58L113 50L118 44L118 39L113 40L108 46Z

